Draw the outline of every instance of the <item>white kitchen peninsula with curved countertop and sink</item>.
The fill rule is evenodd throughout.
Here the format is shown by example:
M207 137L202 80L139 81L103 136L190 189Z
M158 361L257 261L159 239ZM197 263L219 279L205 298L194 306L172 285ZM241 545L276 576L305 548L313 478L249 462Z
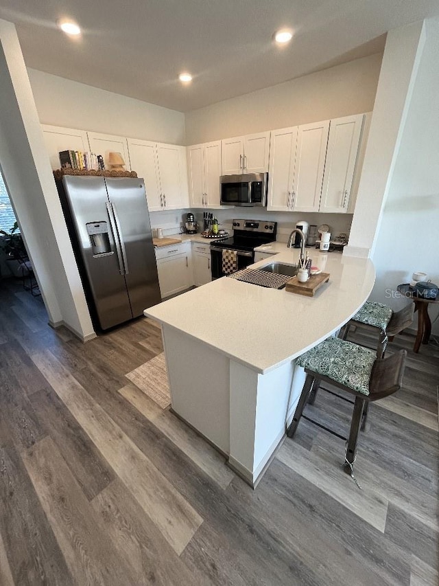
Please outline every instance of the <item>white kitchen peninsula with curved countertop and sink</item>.
M298 250L261 260L296 264ZM315 297L221 278L145 310L160 322L171 408L255 486L292 420L305 373L295 359L327 338L367 300L368 259L313 251L331 274Z

